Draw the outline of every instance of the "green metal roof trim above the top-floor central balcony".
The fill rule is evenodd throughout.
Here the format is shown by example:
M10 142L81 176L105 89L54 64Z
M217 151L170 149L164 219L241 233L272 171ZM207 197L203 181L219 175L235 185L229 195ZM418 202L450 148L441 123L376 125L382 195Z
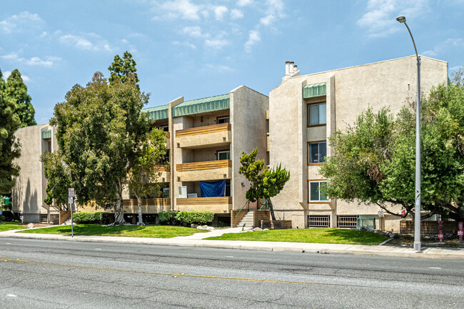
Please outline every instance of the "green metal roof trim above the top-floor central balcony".
M197 98L185 101L173 107L173 117L193 115L195 113L206 113L208 111L221 111L231 107L231 94L221 94L208 98Z

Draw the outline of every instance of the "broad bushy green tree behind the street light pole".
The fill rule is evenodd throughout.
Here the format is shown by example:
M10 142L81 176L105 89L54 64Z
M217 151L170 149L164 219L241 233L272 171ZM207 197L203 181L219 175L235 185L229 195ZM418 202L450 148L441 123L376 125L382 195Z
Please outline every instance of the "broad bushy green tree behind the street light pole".
M464 220L464 87L462 75L430 91L421 104L422 208L456 221ZM345 201L376 204L387 213L414 215L415 104L397 117L371 109L346 132L329 138L336 154L326 158L321 175L327 193ZM400 205L405 214L391 210Z

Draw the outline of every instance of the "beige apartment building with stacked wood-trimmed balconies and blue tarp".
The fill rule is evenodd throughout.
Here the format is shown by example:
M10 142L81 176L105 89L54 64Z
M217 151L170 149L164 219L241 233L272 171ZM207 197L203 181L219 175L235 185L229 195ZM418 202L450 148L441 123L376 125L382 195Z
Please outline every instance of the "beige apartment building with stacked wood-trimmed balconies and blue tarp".
M246 203L249 188L246 178L238 174L241 153L257 147L259 158L267 158L268 96L239 86L226 94L191 101L180 97L143 111L149 113L154 127L168 133L166 164L158 166L161 176L157 181L163 183L163 195L143 199L146 221L154 221L161 211L188 210L212 211L216 221L230 224L231 211ZM14 212L22 213L24 222L45 221L47 214L57 214L44 203L46 178L39 160L44 151L56 149L55 133L56 128L49 124L16 132L27 146L22 147L17 161L21 172L13 190ZM78 210L96 208L78 206ZM137 201L127 188L123 210L126 220L135 223Z

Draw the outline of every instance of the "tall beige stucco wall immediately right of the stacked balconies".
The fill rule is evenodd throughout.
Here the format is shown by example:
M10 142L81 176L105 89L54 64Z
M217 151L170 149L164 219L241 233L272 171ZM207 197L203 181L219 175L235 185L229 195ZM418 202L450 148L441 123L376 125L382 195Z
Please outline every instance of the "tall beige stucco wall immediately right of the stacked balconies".
M243 206L246 202L245 193L250 188L250 183L238 173L242 152L250 153L258 147L257 158L266 159L266 111L268 108L269 98L262 93L246 86L239 86L231 91L233 209L240 209Z

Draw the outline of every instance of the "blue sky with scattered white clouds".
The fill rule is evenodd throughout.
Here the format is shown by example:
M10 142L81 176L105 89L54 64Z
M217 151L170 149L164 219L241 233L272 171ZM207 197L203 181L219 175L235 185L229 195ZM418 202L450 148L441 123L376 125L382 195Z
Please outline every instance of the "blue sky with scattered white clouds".
M228 93L268 95L295 61L301 74L414 54L464 66L464 0L0 0L0 68L24 76L37 123L116 54L137 62L147 107Z

